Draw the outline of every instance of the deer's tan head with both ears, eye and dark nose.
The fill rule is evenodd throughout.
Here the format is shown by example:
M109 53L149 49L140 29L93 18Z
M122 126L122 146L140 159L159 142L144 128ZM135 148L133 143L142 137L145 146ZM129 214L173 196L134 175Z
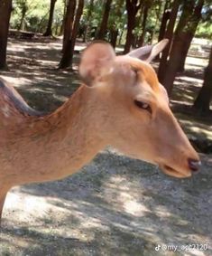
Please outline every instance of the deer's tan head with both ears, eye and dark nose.
M82 54L79 74L101 106L98 119L103 119L106 144L159 165L165 174L188 177L198 170L198 154L149 64L167 43L162 40L124 56L115 56L108 43L92 43Z

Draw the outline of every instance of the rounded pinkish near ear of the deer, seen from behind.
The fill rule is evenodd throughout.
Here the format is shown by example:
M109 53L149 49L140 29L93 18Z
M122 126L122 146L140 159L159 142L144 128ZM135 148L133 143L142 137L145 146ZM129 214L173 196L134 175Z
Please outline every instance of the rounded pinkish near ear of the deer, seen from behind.
M82 53L79 75L88 86L92 86L94 81L111 71L114 59L115 52L109 43L91 43Z

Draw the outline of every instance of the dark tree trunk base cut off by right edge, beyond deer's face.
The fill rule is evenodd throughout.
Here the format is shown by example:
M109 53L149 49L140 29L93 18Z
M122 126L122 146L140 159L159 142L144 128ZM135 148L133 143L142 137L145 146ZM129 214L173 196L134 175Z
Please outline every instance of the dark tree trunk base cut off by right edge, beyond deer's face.
M200 113L207 112L210 109L210 100L212 99L212 48L210 50L209 62L205 69L204 82L199 90L198 97L194 101L194 108Z

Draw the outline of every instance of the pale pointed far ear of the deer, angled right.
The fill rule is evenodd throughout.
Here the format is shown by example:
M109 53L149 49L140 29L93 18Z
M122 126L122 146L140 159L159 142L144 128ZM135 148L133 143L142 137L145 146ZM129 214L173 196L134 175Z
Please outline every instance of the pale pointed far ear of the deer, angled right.
M167 43L169 43L169 39L163 39L159 43L135 49L127 55L145 62L152 62L152 60L166 47Z

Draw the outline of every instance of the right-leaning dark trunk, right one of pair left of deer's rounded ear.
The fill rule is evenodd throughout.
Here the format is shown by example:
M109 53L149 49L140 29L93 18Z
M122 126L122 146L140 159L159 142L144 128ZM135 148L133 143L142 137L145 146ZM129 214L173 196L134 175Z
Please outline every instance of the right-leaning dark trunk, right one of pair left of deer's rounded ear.
M68 68L70 65L72 65L74 46L75 46L75 42L78 35L79 21L83 12L83 7L84 7L84 0L78 0L78 9L77 9L76 17L74 19L72 33L65 45L64 52L62 54L62 58L59 65L60 69L65 69L65 68Z

